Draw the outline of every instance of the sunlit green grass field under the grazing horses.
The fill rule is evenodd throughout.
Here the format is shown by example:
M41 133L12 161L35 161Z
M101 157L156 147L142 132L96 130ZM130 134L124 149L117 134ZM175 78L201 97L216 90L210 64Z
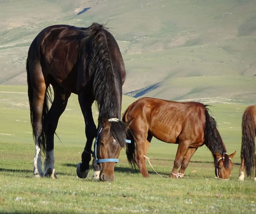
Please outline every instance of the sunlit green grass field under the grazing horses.
M142 178L130 168L123 149L115 181L104 183L76 177L85 134L77 96L72 95L56 131L61 139L55 141L58 178L35 179L26 90L25 86L0 86L0 213L255 213L256 182L237 180L246 105L211 103L210 107L227 151L237 151L230 180L215 179L213 158L205 146L192 157L184 178L166 178L177 146L153 139L147 156L164 177L147 164L150 178ZM122 111L134 100L124 96ZM95 106L94 116L96 121Z

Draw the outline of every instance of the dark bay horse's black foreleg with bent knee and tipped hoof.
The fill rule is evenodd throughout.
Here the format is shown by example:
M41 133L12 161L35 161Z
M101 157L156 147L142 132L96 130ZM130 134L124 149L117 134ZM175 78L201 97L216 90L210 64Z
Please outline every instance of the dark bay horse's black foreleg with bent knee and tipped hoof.
M85 92L80 92L78 95L79 104L85 121L85 135L86 144L84 152L82 153L82 162L77 164L76 174L79 178L87 178L90 171L91 161L91 146L92 141L96 137L97 131L96 126L92 117L92 103L93 99L86 96Z

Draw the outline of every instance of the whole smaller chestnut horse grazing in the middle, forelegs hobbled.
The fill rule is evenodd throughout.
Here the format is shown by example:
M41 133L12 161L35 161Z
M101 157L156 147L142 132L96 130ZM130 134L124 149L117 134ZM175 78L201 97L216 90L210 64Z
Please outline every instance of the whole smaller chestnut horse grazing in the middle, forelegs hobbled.
M179 144L170 177L183 177L184 171L197 148L206 145L214 156L215 174L229 179L233 164L224 142L206 106L198 102L173 102L141 98L125 111L122 121L134 118L129 127L131 144L127 144L127 159L135 164L144 177L149 177L145 156L152 137L166 143ZM181 166L179 172L178 168Z

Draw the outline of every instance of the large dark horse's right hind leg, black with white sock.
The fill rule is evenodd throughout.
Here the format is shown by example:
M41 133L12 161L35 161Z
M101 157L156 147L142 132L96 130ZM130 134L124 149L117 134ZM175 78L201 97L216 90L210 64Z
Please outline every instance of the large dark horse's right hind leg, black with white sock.
M61 114L64 112L71 93L62 87L54 87L54 100L45 121L46 154L44 161L44 176L57 178L54 167L54 134Z

